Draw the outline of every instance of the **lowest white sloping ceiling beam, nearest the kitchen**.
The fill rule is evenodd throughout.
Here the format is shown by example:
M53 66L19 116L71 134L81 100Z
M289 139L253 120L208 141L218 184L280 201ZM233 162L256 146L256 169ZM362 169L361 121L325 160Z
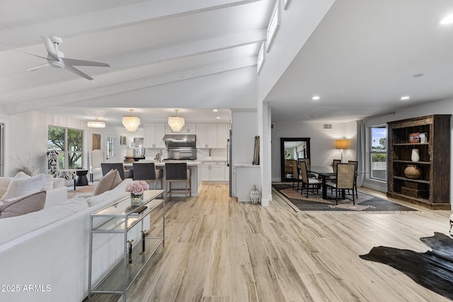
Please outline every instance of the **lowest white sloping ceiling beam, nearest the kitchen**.
M209 76L212 74L219 74L234 69L241 69L244 67L253 66L256 65L256 60L257 60L256 57L236 59L234 61L222 62L219 64L210 64L207 66L200 66L194 69L178 71L175 73L164 74L159 76L151 76L146 79L127 81L110 86L104 86L101 88L79 91L76 93L52 95L52 97L49 98L41 98L38 100L23 103L10 103L5 105L5 112L7 115L13 115L21 112L28 112L30 110L40 110L43 108L61 106L64 104L79 102L81 100L89 100L92 98L100 98L103 96L115 95L117 93L137 91L139 89L150 88L153 86L159 86L168 83L174 83L176 81L195 79L201 76Z

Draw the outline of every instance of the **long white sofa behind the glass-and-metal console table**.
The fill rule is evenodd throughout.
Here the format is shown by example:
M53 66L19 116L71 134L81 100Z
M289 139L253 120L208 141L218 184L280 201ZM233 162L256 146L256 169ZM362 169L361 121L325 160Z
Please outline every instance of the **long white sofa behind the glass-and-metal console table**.
M126 179L93 197L0 219L0 301L83 301L88 296L90 214L127 197ZM149 227L149 219L144 219ZM130 233L139 238L140 229ZM93 240L93 282L122 257L122 236Z

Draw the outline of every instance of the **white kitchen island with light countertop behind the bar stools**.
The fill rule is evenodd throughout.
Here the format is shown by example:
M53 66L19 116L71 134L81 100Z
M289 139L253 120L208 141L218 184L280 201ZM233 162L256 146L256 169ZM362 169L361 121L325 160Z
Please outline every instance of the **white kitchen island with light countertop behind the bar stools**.
M192 186L192 196L193 197L198 197L200 194L201 186L202 186L202 181L201 181L201 161L149 161L149 160L140 160L138 161L139 163L154 163L156 165L156 169L163 169L164 170L164 187L162 189L165 190L165 184L166 184L166 175L165 175L165 163L187 163L187 167L190 169L190 185ZM125 168L132 168L132 163L125 163ZM126 169L127 169L126 168ZM159 186L159 185L158 185ZM182 189L183 184L182 183L173 183L171 185L171 188L173 189ZM160 188L159 188L160 189ZM179 196L178 194L172 194L173 196ZM181 197L184 196L184 194L180 194Z

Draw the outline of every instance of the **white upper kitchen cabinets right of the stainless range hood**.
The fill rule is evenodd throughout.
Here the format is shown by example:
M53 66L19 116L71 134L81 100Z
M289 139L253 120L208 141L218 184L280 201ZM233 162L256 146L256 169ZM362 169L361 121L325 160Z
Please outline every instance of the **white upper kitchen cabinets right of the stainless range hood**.
M197 124L197 148L226 148L229 124Z

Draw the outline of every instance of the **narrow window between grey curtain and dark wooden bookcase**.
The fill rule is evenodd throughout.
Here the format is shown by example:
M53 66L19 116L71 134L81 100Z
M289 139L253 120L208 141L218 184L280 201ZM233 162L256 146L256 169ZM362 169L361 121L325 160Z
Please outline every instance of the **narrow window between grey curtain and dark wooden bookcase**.
M387 179L387 129L384 125L370 128L371 178Z

